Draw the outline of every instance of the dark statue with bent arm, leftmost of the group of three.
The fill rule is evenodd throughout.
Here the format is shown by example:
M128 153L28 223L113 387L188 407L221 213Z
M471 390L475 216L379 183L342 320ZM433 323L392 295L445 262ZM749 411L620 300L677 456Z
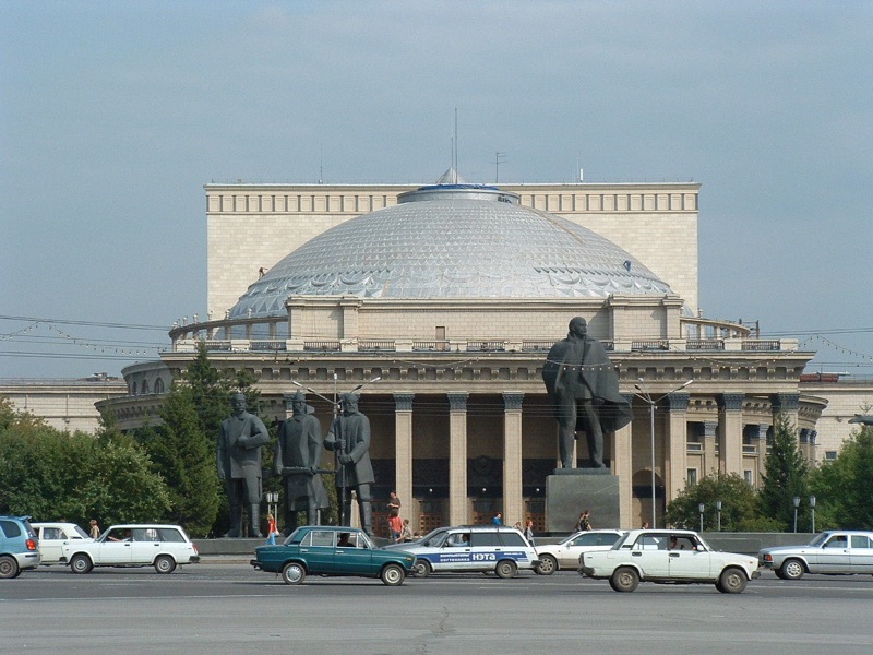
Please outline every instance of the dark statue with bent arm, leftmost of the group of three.
M249 536L261 534L261 446L270 441L264 421L246 412L246 396L230 398L231 415L218 434L218 477L230 503L230 529L226 537L242 536L242 505L249 510Z

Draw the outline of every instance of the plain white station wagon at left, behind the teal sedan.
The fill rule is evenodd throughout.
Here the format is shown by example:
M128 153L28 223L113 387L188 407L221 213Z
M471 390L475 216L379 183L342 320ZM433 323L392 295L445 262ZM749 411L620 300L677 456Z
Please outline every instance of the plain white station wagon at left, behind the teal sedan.
M178 525L115 525L96 541L71 543L62 552L73 573L94 567L154 567L172 573L177 565L200 561L198 547Z

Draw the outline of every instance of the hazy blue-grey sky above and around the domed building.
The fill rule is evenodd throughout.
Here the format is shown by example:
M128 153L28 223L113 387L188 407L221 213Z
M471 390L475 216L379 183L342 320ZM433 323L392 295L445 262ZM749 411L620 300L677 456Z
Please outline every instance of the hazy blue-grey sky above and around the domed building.
M871 1L0 0L0 378L203 317L204 183L430 183L455 108L467 181L701 182L705 314L871 376L872 107Z

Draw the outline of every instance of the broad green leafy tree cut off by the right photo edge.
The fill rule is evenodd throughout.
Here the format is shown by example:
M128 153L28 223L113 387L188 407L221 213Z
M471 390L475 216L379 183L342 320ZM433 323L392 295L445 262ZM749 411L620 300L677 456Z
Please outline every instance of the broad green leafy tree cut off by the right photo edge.
M839 455L816 469L810 487L816 498L816 527L873 527L873 427L863 426Z

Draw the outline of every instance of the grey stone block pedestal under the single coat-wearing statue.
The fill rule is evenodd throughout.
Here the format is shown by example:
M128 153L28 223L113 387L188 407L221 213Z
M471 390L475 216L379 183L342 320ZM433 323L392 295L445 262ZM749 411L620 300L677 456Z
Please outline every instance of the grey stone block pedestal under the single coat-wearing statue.
M546 529L572 533L579 514L591 513L591 527L619 527L619 476L609 468L559 468L546 478Z

